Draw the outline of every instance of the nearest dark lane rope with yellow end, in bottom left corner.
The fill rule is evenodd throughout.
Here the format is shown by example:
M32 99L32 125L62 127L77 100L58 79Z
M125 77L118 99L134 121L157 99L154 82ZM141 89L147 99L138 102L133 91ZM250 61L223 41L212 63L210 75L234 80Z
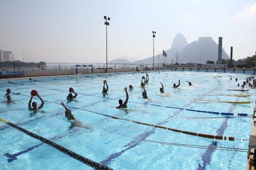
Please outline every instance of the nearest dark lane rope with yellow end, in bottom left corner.
M90 159L88 159L86 157L83 157L83 156L81 156L81 155L79 155L79 154L77 154L77 153L75 153L73 151L70 151L70 150L62 147L61 145L59 145L59 144L57 144L57 143L55 143L55 142L53 142L51 140L48 140L48 139L46 139L46 138L44 138L42 136L36 135L36 134L26 130L26 129L23 129L23 128L21 128L19 126L16 126L16 125L14 125L14 124L12 124L10 122L7 122L7 120L5 120L5 119L3 119L1 117L0 117L0 121L5 123L5 124L7 124L8 126L11 126L12 128L14 128L14 129L16 129L16 130L18 130L20 132L25 133L28 136L31 136L31 137L33 137L33 138L35 138L37 140L40 140L43 143L46 143L46 144L50 145L52 148L55 148L58 151L62 152L63 154L66 154L66 155L70 156L71 158L74 158L74 159L76 159L76 160L78 160L78 161L80 161L80 162L82 162L82 163L84 163L84 164L86 164L88 166L91 166L91 167L93 167L95 169L102 169L102 170L112 169L112 168L110 168L108 166L105 166L105 165L102 165L100 163L94 162L94 161L92 161L92 160L90 160Z

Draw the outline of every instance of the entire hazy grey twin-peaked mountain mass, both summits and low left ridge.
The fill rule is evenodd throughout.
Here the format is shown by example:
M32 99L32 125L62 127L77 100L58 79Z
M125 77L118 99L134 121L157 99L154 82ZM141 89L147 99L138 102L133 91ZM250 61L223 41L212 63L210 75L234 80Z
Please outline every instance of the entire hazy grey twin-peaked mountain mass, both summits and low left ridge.
M176 56L178 53L178 62L187 63L187 62L196 62L206 63L206 60L217 61L218 59L218 44L211 37L199 37L197 41L193 41L187 44L186 38L181 34L177 34L173 40L172 47L169 50L165 51L167 58L163 57L162 53L160 54L159 63L165 62L170 63L172 60L176 62ZM229 59L229 56L222 48L222 58ZM163 61L164 60L164 61ZM153 57L148 57L143 60L135 61L134 63L153 63ZM155 55L155 63L158 63L158 57Z

